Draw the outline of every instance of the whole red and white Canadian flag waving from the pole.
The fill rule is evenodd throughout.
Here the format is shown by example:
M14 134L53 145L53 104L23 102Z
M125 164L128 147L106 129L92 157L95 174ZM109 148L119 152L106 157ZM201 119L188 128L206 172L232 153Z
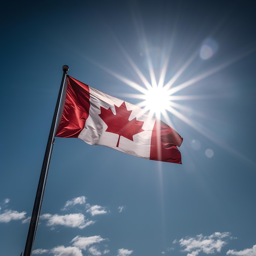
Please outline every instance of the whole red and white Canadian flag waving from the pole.
M79 138L146 159L181 164L182 137L164 122L126 101L67 75L56 137Z

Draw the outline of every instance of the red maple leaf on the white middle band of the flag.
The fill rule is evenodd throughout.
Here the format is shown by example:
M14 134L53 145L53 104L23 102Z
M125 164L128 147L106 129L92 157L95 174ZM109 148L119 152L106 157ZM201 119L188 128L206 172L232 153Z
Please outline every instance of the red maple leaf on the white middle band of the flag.
M115 106L115 110L116 115L112 112L111 108L106 109L101 107L101 114L99 114L99 116L108 126L106 132L112 132L119 135L117 141L118 147L120 136L133 141L133 135L144 131L141 128L144 122L137 121L136 117L129 121L132 110L127 110L125 102L123 102L120 107Z

